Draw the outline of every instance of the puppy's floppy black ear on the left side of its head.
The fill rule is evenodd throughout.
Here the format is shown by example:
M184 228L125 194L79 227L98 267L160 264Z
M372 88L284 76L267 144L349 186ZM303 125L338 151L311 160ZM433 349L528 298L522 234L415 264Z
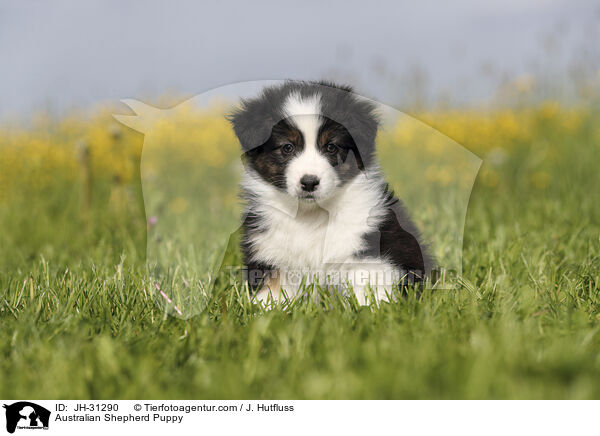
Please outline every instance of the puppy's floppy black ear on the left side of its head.
M245 152L267 142L275 125L272 111L261 100L242 100L240 107L227 115L227 119Z

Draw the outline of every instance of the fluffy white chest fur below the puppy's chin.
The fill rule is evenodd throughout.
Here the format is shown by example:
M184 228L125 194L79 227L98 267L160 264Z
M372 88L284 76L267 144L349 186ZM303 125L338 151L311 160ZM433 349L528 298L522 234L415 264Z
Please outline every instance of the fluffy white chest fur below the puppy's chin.
M331 200L294 207L260 203L264 228L249 242L253 260L283 269L321 269L347 263L364 248L364 235L377 228L385 210L381 192L364 177Z

